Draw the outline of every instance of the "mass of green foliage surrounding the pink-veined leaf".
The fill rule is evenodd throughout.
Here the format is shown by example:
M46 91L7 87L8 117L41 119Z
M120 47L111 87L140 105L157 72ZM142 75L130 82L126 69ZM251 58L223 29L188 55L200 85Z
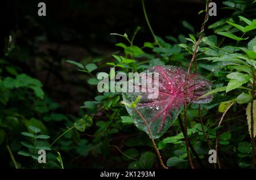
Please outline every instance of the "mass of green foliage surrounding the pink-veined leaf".
M214 87L199 98L208 95L214 98L210 104L188 104L188 136L200 160L208 165L207 168L213 168L208 164L208 151L209 146L212 149L216 146L216 138L218 158L224 167L250 168L252 100L253 113L256 115L253 95L256 19L249 13L255 11L255 7L249 1L230 0L222 3L232 14L213 24L206 24L205 28L209 31L203 33L195 57L197 71ZM64 168L64 165L65 168L81 168L81 164L89 168L160 167L150 138L134 126L133 119L125 109L125 105L136 108L141 97L125 104L121 93L98 93L97 73L105 71L110 79L114 79L118 71L126 74L142 72L156 65L187 68L200 29L185 20L181 25L184 31L180 32L184 34L162 38L152 33L154 42L135 41L136 36L143 36L144 28L140 32L141 28L138 27L131 35L112 33L116 36L118 43L115 43L115 48L119 52L92 58L91 61L67 60L67 65L69 63L80 72L85 72L77 79L85 79L85 83L88 83L88 94L83 95L86 101L77 104L81 106L78 114L67 113L73 104L64 108L53 101L44 82L10 61L15 55L20 56L15 53L15 48L20 47L14 43L13 36L8 37L5 57L0 58L1 149L10 145L19 168ZM22 58L17 61L22 62ZM223 113L225 117L218 126ZM181 122L184 122L183 114L184 110L179 117ZM203 121L203 125L200 121ZM255 136L255 117L253 121ZM156 146L168 167L189 168L185 138L177 119L161 138L156 139ZM37 163L39 149L47 152L45 165ZM4 151L1 156L9 157L9 152ZM197 160L193 153L191 157L195 162ZM9 158L10 166L15 164L12 161Z

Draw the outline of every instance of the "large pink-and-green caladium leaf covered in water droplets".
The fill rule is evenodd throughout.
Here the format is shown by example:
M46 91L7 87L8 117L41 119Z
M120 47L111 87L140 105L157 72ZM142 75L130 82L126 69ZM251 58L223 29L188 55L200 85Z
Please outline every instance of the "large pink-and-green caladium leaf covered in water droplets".
M135 126L147 132L147 127L141 118L141 115L146 119L154 139L159 138L172 125L174 119L180 114L184 105L184 88L185 76L187 71L176 66L154 66L144 71L144 76L147 72L158 73L159 83L157 91L154 93L158 96L148 98L149 92L126 92L123 93L123 101L127 104L134 102L138 96L141 100L135 107L136 110L126 105L127 112L133 119ZM154 77L147 77L146 84L151 83ZM134 87L143 88L142 79L138 83L134 83ZM129 84L130 85L130 84ZM188 76L187 82L187 102L195 102L197 104L208 103L212 100L212 95L198 98L210 91L212 83L208 82L203 76L198 73L191 73ZM147 86L147 90L150 90ZM152 89L151 89L152 90ZM141 113L141 115L138 114Z

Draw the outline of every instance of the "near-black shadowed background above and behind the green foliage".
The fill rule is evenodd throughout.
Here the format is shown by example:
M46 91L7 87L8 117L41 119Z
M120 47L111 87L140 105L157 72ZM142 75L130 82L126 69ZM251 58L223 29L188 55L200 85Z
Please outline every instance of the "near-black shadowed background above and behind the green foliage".
M1 53L12 35L17 56L10 61L20 66L24 73L38 78L47 95L67 107L68 113L77 113L79 106L97 92L86 83L88 75L77 72L75 67L65 63L65 59L86 64L98 57L109 58L108 55L120 50L115 43L125 42L110 33L132 36L137 26L141 31L135 38L135 45L154 41L139 0L43 1L46 16L38 16L39 2L13 0L2 3L5 41L1 41ZM216 3L217 16L211 17L209 24L223 16L221 2ZM197 13L205 9L204 0L146 0L145 6L157 36L188 36L191 32L181 25L183 20L192 24L196 32L200 31L204 14Z

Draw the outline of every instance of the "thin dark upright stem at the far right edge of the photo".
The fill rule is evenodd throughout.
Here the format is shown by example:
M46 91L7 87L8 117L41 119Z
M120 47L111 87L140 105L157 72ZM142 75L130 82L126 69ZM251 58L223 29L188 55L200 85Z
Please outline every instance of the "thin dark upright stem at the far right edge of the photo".
M254 97L255 91L255 68L253 67L253 87L251 88L251 95ZM255 168L255 140L254 140L254 112L253 112L254 98L251 99L251 147L253 151L253 160L251 161L251 168Z

